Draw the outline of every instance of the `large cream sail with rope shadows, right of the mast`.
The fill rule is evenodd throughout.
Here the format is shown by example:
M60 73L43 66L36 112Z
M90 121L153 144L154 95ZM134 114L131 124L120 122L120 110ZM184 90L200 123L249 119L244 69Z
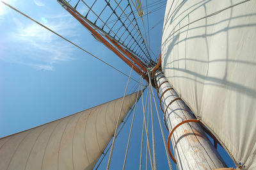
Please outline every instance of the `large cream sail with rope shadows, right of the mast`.
M166 5L165 76L237 166L249 169L256 169L255 42L256 1Z

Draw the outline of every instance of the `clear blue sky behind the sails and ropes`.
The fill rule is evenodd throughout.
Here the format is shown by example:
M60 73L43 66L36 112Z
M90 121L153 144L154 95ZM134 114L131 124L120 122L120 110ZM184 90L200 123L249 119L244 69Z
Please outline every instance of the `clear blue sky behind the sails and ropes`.
M8 3L129 74L131 68L97 42L57 1L34 0L24 3L10 0ZM145 5L144 1L143 3ZM148 17L150 47L157 53L161 41L164 8ZM0 137L36 127L124 95L127 77L1 3L0 28ZM132 72L132 77L138 81L140 79L135 72ZM136 84L137 82L130 81L128 93L133 91ZM127 169L137 169L139 166L143 119L141 111L140 102L134 120ZM157 167L168 169L156 112L154 116ZM131 118L116 140L112 169L122 167L130 124ZM165 129L164 132L167 138L168 132ZM226 154L224 158L228 166L232 166L227 153L221 150L221 154ZM106 168L107 159L108 156L100 169ZM145 168L145 160L143 167Z

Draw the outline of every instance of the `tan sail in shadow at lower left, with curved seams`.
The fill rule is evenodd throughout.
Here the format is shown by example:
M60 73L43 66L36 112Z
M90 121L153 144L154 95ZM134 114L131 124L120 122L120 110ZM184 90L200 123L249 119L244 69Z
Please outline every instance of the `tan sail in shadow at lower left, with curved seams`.
M0 139L0 169L93 169L115 132L123 98ZM136 101L125 97L119 124Z

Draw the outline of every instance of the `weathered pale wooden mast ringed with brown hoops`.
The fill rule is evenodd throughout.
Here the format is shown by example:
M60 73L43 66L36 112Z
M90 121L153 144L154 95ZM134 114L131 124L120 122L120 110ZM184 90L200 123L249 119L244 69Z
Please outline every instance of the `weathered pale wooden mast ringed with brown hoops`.
M154 78L156 79L157 86L166 81L159 87L159 96L161 96L164 106L163 110L166 112L165 119L169 132L182 121L196 120L183 100L176 99L179 98L179 95L164 77L163 72L157 70ZM175 102L172 102L173 100ZM167 109L166 106L168 106ZM171 140L178 169L216 169L227 167L198 123L184 123L180 125L173 132Z

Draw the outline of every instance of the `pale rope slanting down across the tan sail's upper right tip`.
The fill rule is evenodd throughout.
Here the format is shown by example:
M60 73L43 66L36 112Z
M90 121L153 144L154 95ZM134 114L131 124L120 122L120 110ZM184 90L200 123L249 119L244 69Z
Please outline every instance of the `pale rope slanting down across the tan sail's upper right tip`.
M133 65L132 65L132 68L133 68ZM126 95L128 84L129 84L129 81L130 81L130 78L131 78L132 68L131 68L131 72L130 72L130 75L129 75L129 79L128 79L127 84L126 84L125 91L124 91L124 97L123 97L122 104L121 104L121 107L120 107L120 112L119 112L119 115L118 115L118 118L117 118L117 121L116 121L115 133L114 133L114 137L113 137L111 150L110 150L110 153L109 153L108 166L107 166L106 169L109 169L109 166L110 166L110 162L111 162L111 158L112 158L112 154L113 154L113 148L115 146L115 141L116 141L116 131L117 131L117 128L118 128L118 122L119 122L120 115L121 115L121 112L122 112L122 107L123 107L123 104L124 104L124 98L125 98L125 95Z

